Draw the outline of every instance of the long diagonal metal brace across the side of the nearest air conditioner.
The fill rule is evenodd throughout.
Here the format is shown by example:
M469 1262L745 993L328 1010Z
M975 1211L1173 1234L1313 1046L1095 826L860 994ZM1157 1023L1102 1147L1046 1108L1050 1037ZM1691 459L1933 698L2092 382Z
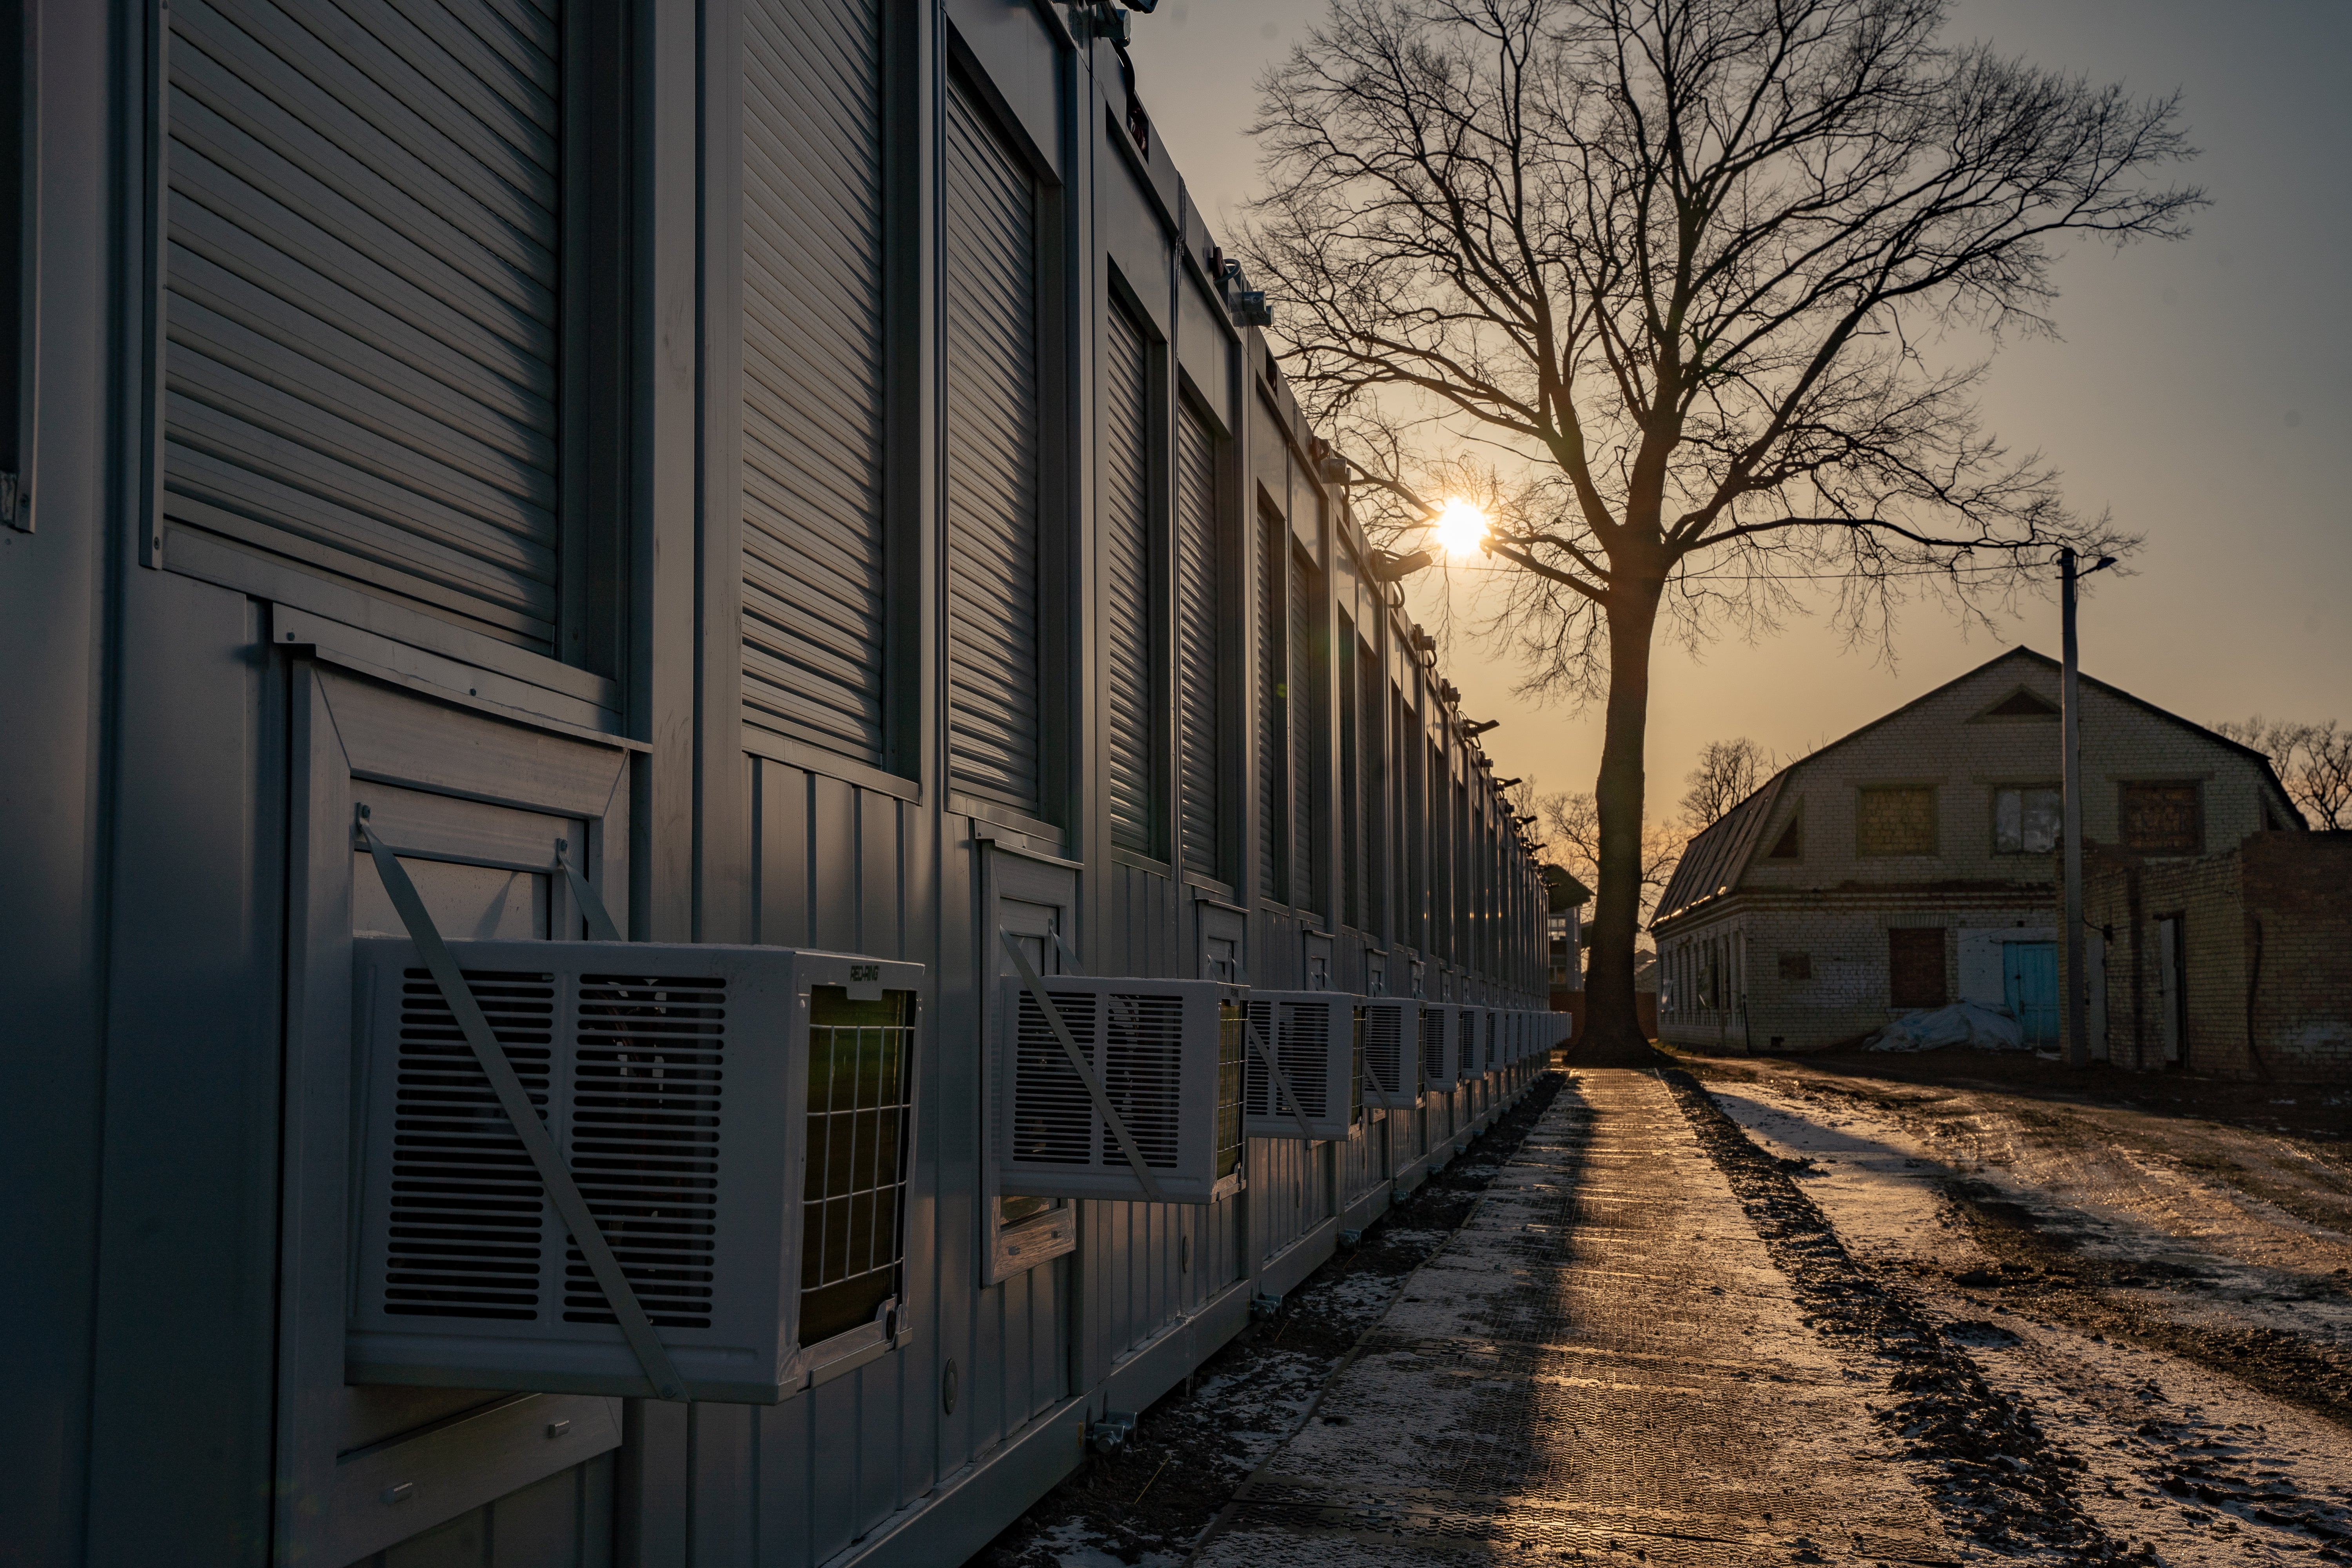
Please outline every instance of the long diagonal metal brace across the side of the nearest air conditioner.
M677 1375L670 1352L663 1349L661 1335L654 1333L654 1319L644 1314L644 1302L637 1300L635 1286L621 1272L621 1260L614 1258L612 1246L604 1241L588 1199L581 1197L579 1182L572 1180L572 1168L564 1166L564 1157L555 1150L555 1135L539 1119L539 1107L532 1105L529 1091L515 1074L515 1063L506 1058L506 1046L499 1044L489 1020L482 1018L482 1004L473 999L466 973L456 966L456 957L433 924L433 914L426 912L426 900L416 896L416 884L409 882L409 872L400 865L393 849L367 830L367 806L360 806L358 837L360 849L376 863L376 877L383 879L383 891L393 896L400 924L409 929L409 940L416 943L416 952L440 987L442 1001L449 1004L449 1016L456 1018L459 1032L473 1046L473 1058L482 1065L482 1077L489 1079L492 1091L499 1095L499 1110L506 1112L506 1121L515 1128L522 1152L532 1157L539 1185L546 1187L555 1213L562 1215L564 1227L579 1244L581 1258L588 1260L588 1272L595 1274L597 1286L604 1291L612 1314L621 1319L621 1333L628 1338L628 1347L637 1352L637 1366L644 1368L644 1380L654 1385L654 1399L684 1399L684 1378ZM604 924L612 924L609 917Z

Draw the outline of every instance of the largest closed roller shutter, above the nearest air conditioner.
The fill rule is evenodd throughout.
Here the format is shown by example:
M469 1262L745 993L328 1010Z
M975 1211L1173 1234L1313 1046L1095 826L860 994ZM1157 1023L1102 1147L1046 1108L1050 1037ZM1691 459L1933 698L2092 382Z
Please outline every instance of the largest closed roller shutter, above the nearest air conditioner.
M555 651L553 2L172 5L165 515Z

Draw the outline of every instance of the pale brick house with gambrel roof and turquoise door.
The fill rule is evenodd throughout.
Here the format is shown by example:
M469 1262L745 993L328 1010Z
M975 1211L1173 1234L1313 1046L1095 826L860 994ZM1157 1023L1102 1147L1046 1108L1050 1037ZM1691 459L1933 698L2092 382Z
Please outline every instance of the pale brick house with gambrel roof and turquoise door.
M2147 863L2300 832L2270 762L2082 679L2084 842ZM2011 649L1780 769L1684 849L1651 933L1675 1044L1797 1051L2009 1006L2056 1046L2058 663ZM2093 933L2091 1039L2107 1034Z

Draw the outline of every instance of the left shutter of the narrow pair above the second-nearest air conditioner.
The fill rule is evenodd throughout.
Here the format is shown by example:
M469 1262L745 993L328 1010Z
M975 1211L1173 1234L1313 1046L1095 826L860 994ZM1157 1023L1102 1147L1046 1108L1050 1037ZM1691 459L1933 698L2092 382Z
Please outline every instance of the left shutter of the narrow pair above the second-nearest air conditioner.
M1105 341L1103 621L1110 741L1110 842L1160 853L1160 574L1152 569L1150 353L1143 331L1110 308Z

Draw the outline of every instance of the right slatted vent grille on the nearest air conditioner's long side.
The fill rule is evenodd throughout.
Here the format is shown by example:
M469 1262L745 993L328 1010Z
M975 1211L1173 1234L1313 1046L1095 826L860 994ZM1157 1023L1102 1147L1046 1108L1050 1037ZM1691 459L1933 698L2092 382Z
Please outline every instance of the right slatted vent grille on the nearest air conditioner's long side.
M579 976L572 1175L659 1328L708 1328L727 983ZM567 1237L564 1321L612 1324Z

